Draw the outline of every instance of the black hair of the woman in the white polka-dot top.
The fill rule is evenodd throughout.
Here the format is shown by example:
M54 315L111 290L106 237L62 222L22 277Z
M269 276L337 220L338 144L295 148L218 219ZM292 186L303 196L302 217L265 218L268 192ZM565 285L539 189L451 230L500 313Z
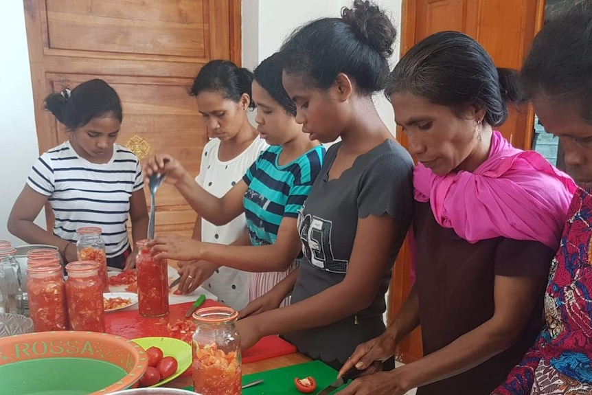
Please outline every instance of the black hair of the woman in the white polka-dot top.
M253 73L237 67L229 60L211 60L201 68L189 92L196 96L200 92L217 92L225 99L239 102L245 93L249 96L249 109L255 108L251 100Z

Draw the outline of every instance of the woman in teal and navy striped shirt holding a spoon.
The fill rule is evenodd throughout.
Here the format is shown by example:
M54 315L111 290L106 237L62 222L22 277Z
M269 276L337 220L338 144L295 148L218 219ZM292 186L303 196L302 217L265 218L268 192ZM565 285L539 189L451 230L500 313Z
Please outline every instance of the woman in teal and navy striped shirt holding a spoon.
M230 246L179 236L158 236L150 245L160 251L162 258L201 259L253 272L250 300L289 277L284 283L286 288L277 293L273 302L277 307L296 279L295 274L289 275L300 251L296 220L321 170L325 148L301 132L294 103L282 87L277 54L255 69L254 78L252 98L258 106L255 122L260 136L271 147L227 194L221 198L209 194L170 155L155 155L144 166L146 176L167 173L167 179L174 182L194 210L211 223L223 225L244 212L248 233ZM164 159L169 161L163 163Z

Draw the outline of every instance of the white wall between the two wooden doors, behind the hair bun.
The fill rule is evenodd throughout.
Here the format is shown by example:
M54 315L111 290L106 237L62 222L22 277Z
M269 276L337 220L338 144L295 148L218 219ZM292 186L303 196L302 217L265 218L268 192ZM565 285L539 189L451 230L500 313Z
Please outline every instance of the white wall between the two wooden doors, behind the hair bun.
M399 30L401 0L375 2L391 16L391 21ZM352 0L242 0L242 64L253 69L260 61L280 49L284 38L296 27L322 16L339 16L341 8L352 3ZM397 39L391 67L398 58ZM389 102L382 93L375 96L374 102L383 122L394 133L395 121Z

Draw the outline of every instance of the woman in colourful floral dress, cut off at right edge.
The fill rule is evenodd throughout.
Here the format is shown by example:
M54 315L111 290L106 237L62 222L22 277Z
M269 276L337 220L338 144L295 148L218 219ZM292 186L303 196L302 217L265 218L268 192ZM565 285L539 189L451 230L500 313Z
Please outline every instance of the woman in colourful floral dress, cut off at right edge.
M547 292L547 326L496 395L592 394L592 1L552 19L523 67L525 87L565 150L573 196Z

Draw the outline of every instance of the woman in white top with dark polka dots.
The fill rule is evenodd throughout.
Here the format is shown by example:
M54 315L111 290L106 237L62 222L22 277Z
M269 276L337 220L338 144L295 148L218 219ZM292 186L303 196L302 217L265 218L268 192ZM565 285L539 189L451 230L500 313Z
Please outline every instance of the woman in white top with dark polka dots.
M212 60L196 76L190 95L205 122L209 142L203 148L195 181L221 197L242 179L267 144L247 119L253 74L228 60ZM193 239L229 245L240 243L246 232L244 214L226 225L216 226L198 215ZM243 240L247 240L243 238ZM220 267L214 262L179 262L179 291L192 293L198 286L214 293L220 302L240 310L249 302L249 276L245 271Z

